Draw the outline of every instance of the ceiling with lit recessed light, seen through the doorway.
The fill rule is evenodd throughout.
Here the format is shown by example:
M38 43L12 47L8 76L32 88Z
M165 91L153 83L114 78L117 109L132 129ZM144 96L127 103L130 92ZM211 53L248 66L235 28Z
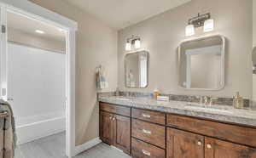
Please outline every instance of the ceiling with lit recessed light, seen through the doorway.
M57 41L65 41L65 31L61 31L54 25L47 25L38 20L31 20L20 14L7 14L7 25L9 28L22 31L38 37L45 37ZM44 31L44 34L38 34L35 31Z

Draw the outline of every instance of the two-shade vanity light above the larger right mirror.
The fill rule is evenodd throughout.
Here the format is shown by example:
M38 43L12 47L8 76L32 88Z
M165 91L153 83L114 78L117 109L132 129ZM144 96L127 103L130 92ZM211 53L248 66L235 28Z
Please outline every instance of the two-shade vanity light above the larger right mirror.
M196 17L189 19L189 25L186 26L186 36L195 35L196 27L204 27L204 32L213 31L214 20L211 19L211 14L198 14Z

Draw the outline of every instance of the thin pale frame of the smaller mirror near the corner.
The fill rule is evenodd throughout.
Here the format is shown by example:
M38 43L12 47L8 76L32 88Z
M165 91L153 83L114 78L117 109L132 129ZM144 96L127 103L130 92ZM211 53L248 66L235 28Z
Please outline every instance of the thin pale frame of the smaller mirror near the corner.
M146 53L147 54L147 85L146 85L146 87L128 87L127 85L126 85L126 82L127 82L127 79L126 79L126 57L128 56L128 55L131 55L131 54L140 54L140 53L142 53L142 52L144 52L144 53ZM130 53L128 53L128 54L125 54L125 59L124 59L124 61L125 61L125 64L124 64L124 66L125 66L125 87L127 87L127 88L139 88L139 89L143 89L143 88L147 88L148 87L148 81L149 81L149 77L148 77L148 63L149 63L149 52L147 51L147 50L138 50L138 51L135 51L135 52L130 52Z

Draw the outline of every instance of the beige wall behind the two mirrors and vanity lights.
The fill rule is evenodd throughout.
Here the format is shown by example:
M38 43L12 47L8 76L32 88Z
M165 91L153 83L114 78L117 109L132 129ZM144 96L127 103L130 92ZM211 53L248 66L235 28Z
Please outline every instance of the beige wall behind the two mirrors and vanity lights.
M177 82L177 46L185 37L189 18L198 13L212 14L215 31L194 37L220 34L227 39L226 86L220 91L183 90ZM125 88L124 56L125 38L138 35L143 48L149 51L149 85L145 89ZM232 97L236 91L246 98L252 97L252 0L193 0L149 20L119 31L119 87L120 90L153 92L158 87L162 93L181 93Z

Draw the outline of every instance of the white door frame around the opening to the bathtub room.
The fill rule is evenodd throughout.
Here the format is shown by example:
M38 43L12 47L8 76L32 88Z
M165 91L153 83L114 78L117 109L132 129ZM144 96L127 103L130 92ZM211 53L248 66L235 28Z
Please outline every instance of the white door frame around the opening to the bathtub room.
M55 25L64 31L66 34L66 154L68 157L74 156L75 153L75 52L76 52L76 31L78 30L78 23L73 20L69 20L61 14L56 14L43 8L35 3L27 0L0 0L1 7L1 25L6 25L6 12L15 12L15 14L26 15L33 20L40 20L44 23ZM7 43L6 34L0 34L1 36L1 60L6 60L7 57ZM3 42L5 40L5 42ZM5 58L5 59L3 59ZM2 63L2 62L1 62ZM7 63L0 65L1 70L5 66L5 70L8 70ZM5 76L4 76L5 75ZM1 74L1 78L7 80L7 71L5 74ZM2 80L1 80L2 82ZM3 86L0 85L1 92L3 92ZM5 89L6 95L8 89ZM1 99L7 99L2 93Z

